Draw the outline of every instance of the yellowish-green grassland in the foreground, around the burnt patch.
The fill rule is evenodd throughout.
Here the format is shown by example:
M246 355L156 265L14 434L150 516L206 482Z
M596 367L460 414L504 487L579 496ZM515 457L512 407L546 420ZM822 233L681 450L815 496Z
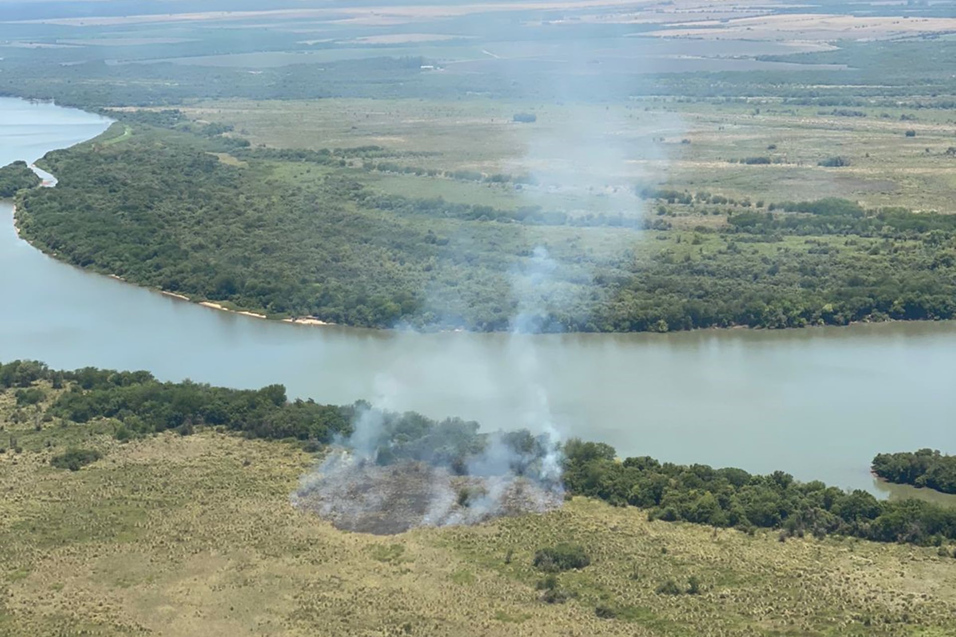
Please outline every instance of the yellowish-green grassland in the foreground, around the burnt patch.
M46 388L45 402L56 390ZM956 560L936 548L753 536L576 498L545 515L376 537L297 511L315 462L205 430L121 444L0 396L0 634L946 635ZM14 416L17 411L20 415ZM18 422L14 422L14 420ZM6 440L5 440L6 442ZM48 446L49 445L49 446ZM76 472L68 446L104 457ZM542 546L592 564L541 601ZM697 595L666 595L674 580ZM596 608L602 608L598 616Z

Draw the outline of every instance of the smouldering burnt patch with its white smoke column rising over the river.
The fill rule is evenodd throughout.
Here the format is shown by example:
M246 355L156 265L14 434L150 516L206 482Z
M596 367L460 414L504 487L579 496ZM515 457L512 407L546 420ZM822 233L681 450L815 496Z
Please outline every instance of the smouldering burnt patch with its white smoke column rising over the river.
M580 55L571 57L583 59ZM520 79L516 71L515 80ZM579 96L568 97L574 101ZM664 159L651 137L663 131L636 128L634 122L640 116L619 106L601 109L596 117L592 105L584 117L564 119L561 124L549 121L549 108L545 108L535 123L514 125L515 145L526 149L525 157L514 165L506 161L502 167L507 172L532 176L532 183L520 189L528 205L545 208L548 202L557 201L552 197L556 193L568 195L566 201L573 202L570 206L577 206L559 211L572 216L597 212L643 215L634 186L636 182L646 183L651 170L648 166ZM393 431L393 417L376 409L360 409L353 434L339 440L336 450L303 478L294 497L297 503L343 528L371 532L473 523L560 505L561 435L545 382L547 370L536 349L540 336L535 335L559 331L562 319L587 306L581 301L595 292L589 285L594 273L587 262L576 265L567 259L555 259L549 246L539 239L532 240L536 233L525 226L512 224L511 228L529 238L529 256L508 273L514 312L507 363L517 372L509 377L511 382L518 378L521 400L514 406L514 413L507 416L508 422L483 424L491 429L534 434L486 434L480 449L469 450L464 457L449 457L441 440L409 442L403 439L405 434ZM451 239L464 255L474 248L476 238L468 236L467 229L462 233ZM606 253L598 258L616 260L634 240L626 232L604 236ZM442 315L448 298L429 301L428 307L440 322L457 325L464 320L464 315ZM456 353L454 347L445 351L447 356ZM473 392L476 384L493 383L493 370L500 363L474 360L474 380L448 378L447 387ZM373 403L382 408L402 404L395 393L402 391L403 381L406 379L383 374Z

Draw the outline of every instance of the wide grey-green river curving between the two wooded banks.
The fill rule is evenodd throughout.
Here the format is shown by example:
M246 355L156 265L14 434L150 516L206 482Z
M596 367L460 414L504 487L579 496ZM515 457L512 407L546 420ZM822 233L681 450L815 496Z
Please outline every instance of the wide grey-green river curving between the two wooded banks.
M108 120L0 98L0 165L38 159ZM0 360L144 369L291 396L551 423L621 456L783 469L881 495L878 452L956 453L956 323L670 334L417 334L241 316L91 274L19 240L0 202Z

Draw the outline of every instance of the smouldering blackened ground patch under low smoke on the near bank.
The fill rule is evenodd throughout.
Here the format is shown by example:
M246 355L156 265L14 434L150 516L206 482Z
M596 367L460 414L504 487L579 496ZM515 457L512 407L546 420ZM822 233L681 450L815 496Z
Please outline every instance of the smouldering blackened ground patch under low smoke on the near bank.
M419 437L406 431L421 422L359 405L353 434L300 479L293 504L379 534L560 506L560 445L550 435L476 434L457 420L429 423ZM449 446L456 438L467 445Z

